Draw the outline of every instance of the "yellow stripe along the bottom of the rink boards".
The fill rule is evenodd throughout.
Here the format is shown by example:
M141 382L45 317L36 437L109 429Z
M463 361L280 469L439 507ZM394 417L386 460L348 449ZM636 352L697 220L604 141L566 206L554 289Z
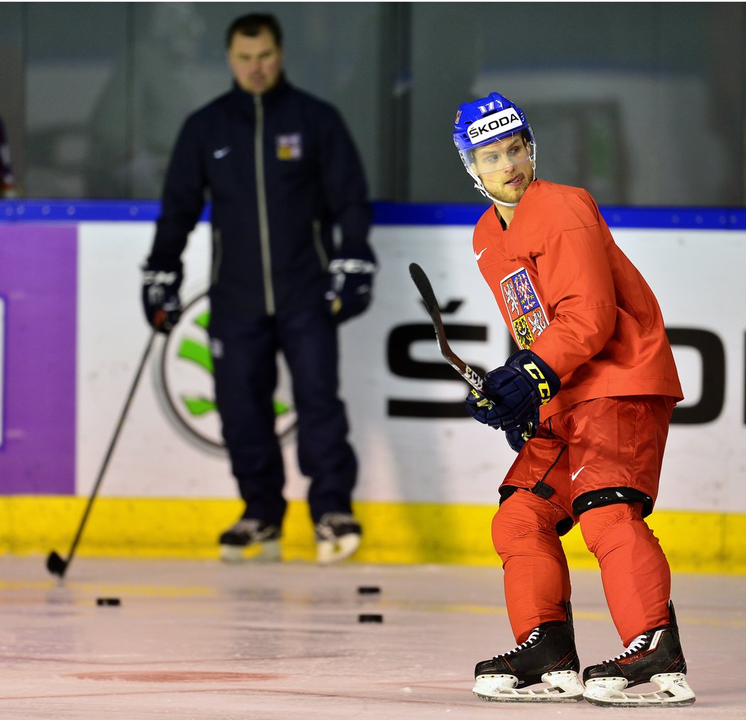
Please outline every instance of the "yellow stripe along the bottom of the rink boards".
M87 498L0 498L0 552L63 557ZM97 498L78 545L81 557L218 557L219 533L238 519L237 500ZM358 502L360 563L455 563L500 567L492 548L489 505ZM746 514L656 510L648 524L674 572L746 573ZM562 538L571 568L596 568L579 528ZM291 501L284 560L313 561L313 526L304 501Z

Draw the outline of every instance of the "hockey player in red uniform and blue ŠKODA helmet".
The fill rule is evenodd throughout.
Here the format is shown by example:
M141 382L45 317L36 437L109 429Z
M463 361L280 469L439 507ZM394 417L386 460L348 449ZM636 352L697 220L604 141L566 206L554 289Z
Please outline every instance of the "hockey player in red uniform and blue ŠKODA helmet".
M683 398L656 298L591 195L536 178L533 131L512 101L492 93L462 104L454 142L492 201L474 256L520 348L466 401L518 452L492 522L518 646L477 663L474 694L691 704L671 572L645 522ZM576 523L626 648L586 667L584 684L560 542ZM627 692L649 682L656 692Z

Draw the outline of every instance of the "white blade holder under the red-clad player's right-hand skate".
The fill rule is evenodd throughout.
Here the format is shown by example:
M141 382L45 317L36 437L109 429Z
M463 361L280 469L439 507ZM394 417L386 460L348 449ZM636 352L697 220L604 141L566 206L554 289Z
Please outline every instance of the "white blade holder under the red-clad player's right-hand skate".
M657 692L624 692L626 678L597 677L586 683L583 698L604 707L691 705L696 699L683 672L661 672L651 677L651 683L659 687Z

